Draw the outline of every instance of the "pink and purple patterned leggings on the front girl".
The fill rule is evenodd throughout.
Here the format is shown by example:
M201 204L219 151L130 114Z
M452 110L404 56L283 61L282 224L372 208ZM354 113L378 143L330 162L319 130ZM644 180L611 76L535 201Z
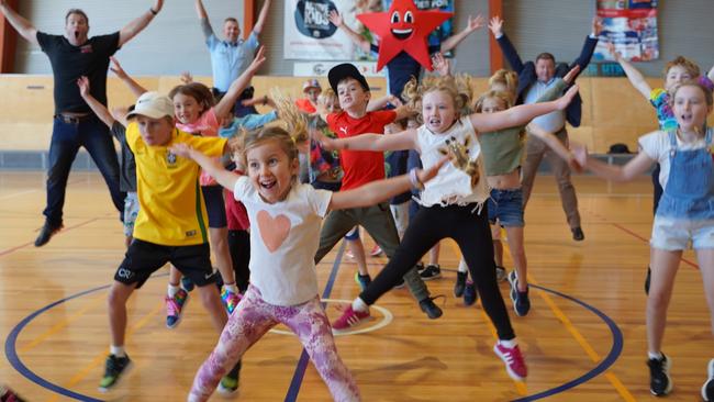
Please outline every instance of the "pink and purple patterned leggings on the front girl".
M285 324L298 335L335 401L360 400L355 379L337 355L320 298L298 305L274 305L266 303L254 286L248 287L225 324L219 344L196 375L189 400L208 400L231 367L277 324Z

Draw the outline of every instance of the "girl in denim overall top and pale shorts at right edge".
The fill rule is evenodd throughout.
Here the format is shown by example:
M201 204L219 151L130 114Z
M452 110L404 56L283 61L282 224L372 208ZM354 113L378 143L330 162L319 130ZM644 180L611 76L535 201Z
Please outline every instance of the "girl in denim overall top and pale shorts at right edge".
M659 397L672 389L670 359L661 353L661 344L674 276L682 252L690 243L699 260L714 333L714 156L711 153L714 130L706 127L712 92L700 82L690 81L677 87L672 99L678 127L640 137L640 153L625 166L610 166L587 157L584 147L573 147L582 165L612 180L638 177L655 161L661 166L659 181L665 192L652 225L652 278L647 299L647 365L650 391ZM714 401L714 359L709 362L702 398Z

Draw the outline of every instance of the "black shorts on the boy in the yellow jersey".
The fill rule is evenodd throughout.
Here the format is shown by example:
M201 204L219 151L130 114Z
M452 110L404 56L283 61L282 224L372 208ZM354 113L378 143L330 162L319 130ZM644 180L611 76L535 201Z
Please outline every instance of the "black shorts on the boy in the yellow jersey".
M215 283L216 273L211 266L208 243L193 246L161 246L134 238L124 260L114 273L114 280L124 284L136 283L136 289L156 270L171 263L198 287Z

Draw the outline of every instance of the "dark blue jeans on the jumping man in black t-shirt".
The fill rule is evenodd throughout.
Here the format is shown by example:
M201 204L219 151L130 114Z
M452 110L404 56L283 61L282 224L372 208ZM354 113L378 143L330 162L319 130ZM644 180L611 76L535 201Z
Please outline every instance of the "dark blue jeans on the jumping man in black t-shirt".
M67 178L80 146L87 149L99 167L116 210L120 214L124 210L125 194L119 190L119 160L107 125L93 115L76 123L55 118L49 143L47 206L43 212L52 226L62 225Z

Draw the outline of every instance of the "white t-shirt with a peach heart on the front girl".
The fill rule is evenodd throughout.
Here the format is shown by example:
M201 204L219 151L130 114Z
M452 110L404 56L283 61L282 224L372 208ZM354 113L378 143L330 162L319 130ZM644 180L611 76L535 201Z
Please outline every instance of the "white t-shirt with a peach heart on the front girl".
M285 201L269 204L242 176L233 193L250 219L250 283L263 300L295 305L317 295L314 258L332 192L293 185Z

